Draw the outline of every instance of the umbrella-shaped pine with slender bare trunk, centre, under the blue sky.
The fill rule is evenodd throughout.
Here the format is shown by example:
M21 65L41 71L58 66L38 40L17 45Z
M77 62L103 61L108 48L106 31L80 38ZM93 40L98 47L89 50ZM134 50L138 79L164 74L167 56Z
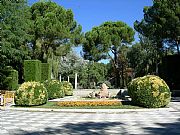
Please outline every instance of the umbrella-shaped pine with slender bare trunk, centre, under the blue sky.
M116 87L120 87L118 52L122 45L130 44L134 40L133 29L120 21L105 22L87 32L85 38L86 42L83 45L84 58L94 61L111 59L116 72Z

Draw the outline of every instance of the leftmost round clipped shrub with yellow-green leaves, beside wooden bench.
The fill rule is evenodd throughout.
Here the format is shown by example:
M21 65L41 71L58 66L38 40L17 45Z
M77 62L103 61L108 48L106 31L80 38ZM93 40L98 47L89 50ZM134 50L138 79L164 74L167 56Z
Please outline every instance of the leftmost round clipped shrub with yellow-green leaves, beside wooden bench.
M25 82L15 93L15 104L20 106L41 105L47 102L47 90L39 82Z

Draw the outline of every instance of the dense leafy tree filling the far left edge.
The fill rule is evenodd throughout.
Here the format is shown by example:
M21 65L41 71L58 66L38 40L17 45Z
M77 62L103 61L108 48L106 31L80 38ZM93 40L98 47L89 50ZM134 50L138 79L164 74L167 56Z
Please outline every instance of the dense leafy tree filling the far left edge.
M12 66L19 72L22 82L22 63L24 59L30 58L27 43L32 39L28 7L24 0L3 0L0 2L0 11L0 68Z

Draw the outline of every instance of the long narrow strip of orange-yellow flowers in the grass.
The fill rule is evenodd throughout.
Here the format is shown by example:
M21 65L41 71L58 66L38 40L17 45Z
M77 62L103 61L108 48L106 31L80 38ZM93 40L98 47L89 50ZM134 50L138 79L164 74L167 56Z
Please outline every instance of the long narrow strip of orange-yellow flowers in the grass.
M120 106L122 103L118 100L104 101L59 101L58 106L73 107L73 106Z

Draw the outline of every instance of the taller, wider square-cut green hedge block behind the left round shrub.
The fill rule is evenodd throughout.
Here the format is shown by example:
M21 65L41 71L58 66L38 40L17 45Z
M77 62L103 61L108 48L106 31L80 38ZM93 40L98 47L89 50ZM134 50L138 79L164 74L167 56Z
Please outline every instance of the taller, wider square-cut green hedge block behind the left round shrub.
M25 60L24 61L24 79L28 81L41 81L41 61Z

